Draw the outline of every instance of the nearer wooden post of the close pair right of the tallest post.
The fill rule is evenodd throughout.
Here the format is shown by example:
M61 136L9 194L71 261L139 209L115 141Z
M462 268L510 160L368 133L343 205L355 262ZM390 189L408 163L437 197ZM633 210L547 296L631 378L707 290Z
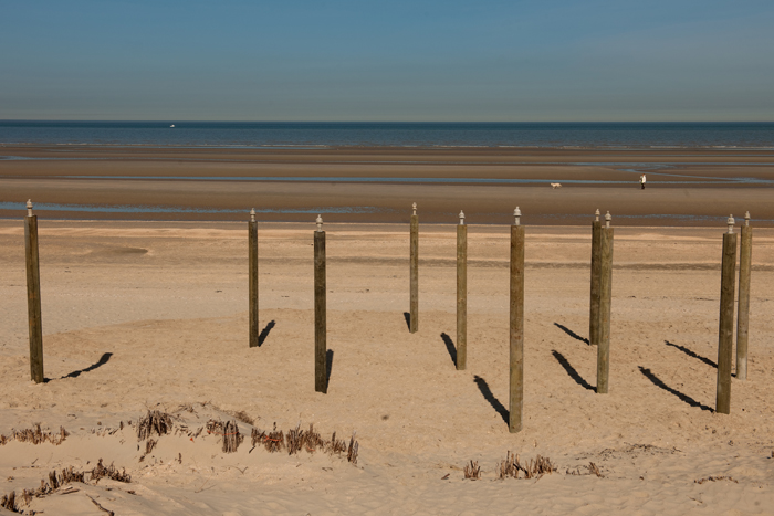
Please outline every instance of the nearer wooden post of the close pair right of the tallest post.
M613 302L613 228L605 215L599 253L599 344L597 344L597 394L606 394L610 375L610 305Z

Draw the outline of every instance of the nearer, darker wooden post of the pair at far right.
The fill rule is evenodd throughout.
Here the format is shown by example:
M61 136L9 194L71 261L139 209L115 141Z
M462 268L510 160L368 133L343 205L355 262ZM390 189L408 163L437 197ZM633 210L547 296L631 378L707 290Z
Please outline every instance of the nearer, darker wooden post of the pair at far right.
M723 234L720 282L720 324L718 327L718 394L715 412L731 412L731 360L734 347L734 297L736 294L736 234L729 215L729 232Z

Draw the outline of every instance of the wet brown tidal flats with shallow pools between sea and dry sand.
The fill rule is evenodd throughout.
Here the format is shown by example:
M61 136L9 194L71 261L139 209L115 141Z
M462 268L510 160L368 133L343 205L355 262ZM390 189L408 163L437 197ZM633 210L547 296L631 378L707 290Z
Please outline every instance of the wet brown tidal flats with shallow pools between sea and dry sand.
M647 189L639 176L646 173ZM552 182L562 183L552 189ZM0 218L713 227L774 225L774 154L754 149L0 147ZM64 208L62 208L64 207Z

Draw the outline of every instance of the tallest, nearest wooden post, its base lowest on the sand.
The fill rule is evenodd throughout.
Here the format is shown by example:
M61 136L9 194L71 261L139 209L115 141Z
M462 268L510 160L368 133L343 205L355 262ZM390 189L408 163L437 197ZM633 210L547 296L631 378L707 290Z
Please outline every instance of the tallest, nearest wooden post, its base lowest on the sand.
M511 373L508 430L522 429L524 406L524 227L520 224L521 210L513 210L515 223L511 227Z

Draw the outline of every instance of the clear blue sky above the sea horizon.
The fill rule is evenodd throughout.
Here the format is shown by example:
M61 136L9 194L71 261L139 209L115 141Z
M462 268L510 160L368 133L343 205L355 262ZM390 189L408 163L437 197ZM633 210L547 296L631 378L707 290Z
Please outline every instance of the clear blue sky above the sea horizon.
M774 1L6 0L0 119L774 120Z

